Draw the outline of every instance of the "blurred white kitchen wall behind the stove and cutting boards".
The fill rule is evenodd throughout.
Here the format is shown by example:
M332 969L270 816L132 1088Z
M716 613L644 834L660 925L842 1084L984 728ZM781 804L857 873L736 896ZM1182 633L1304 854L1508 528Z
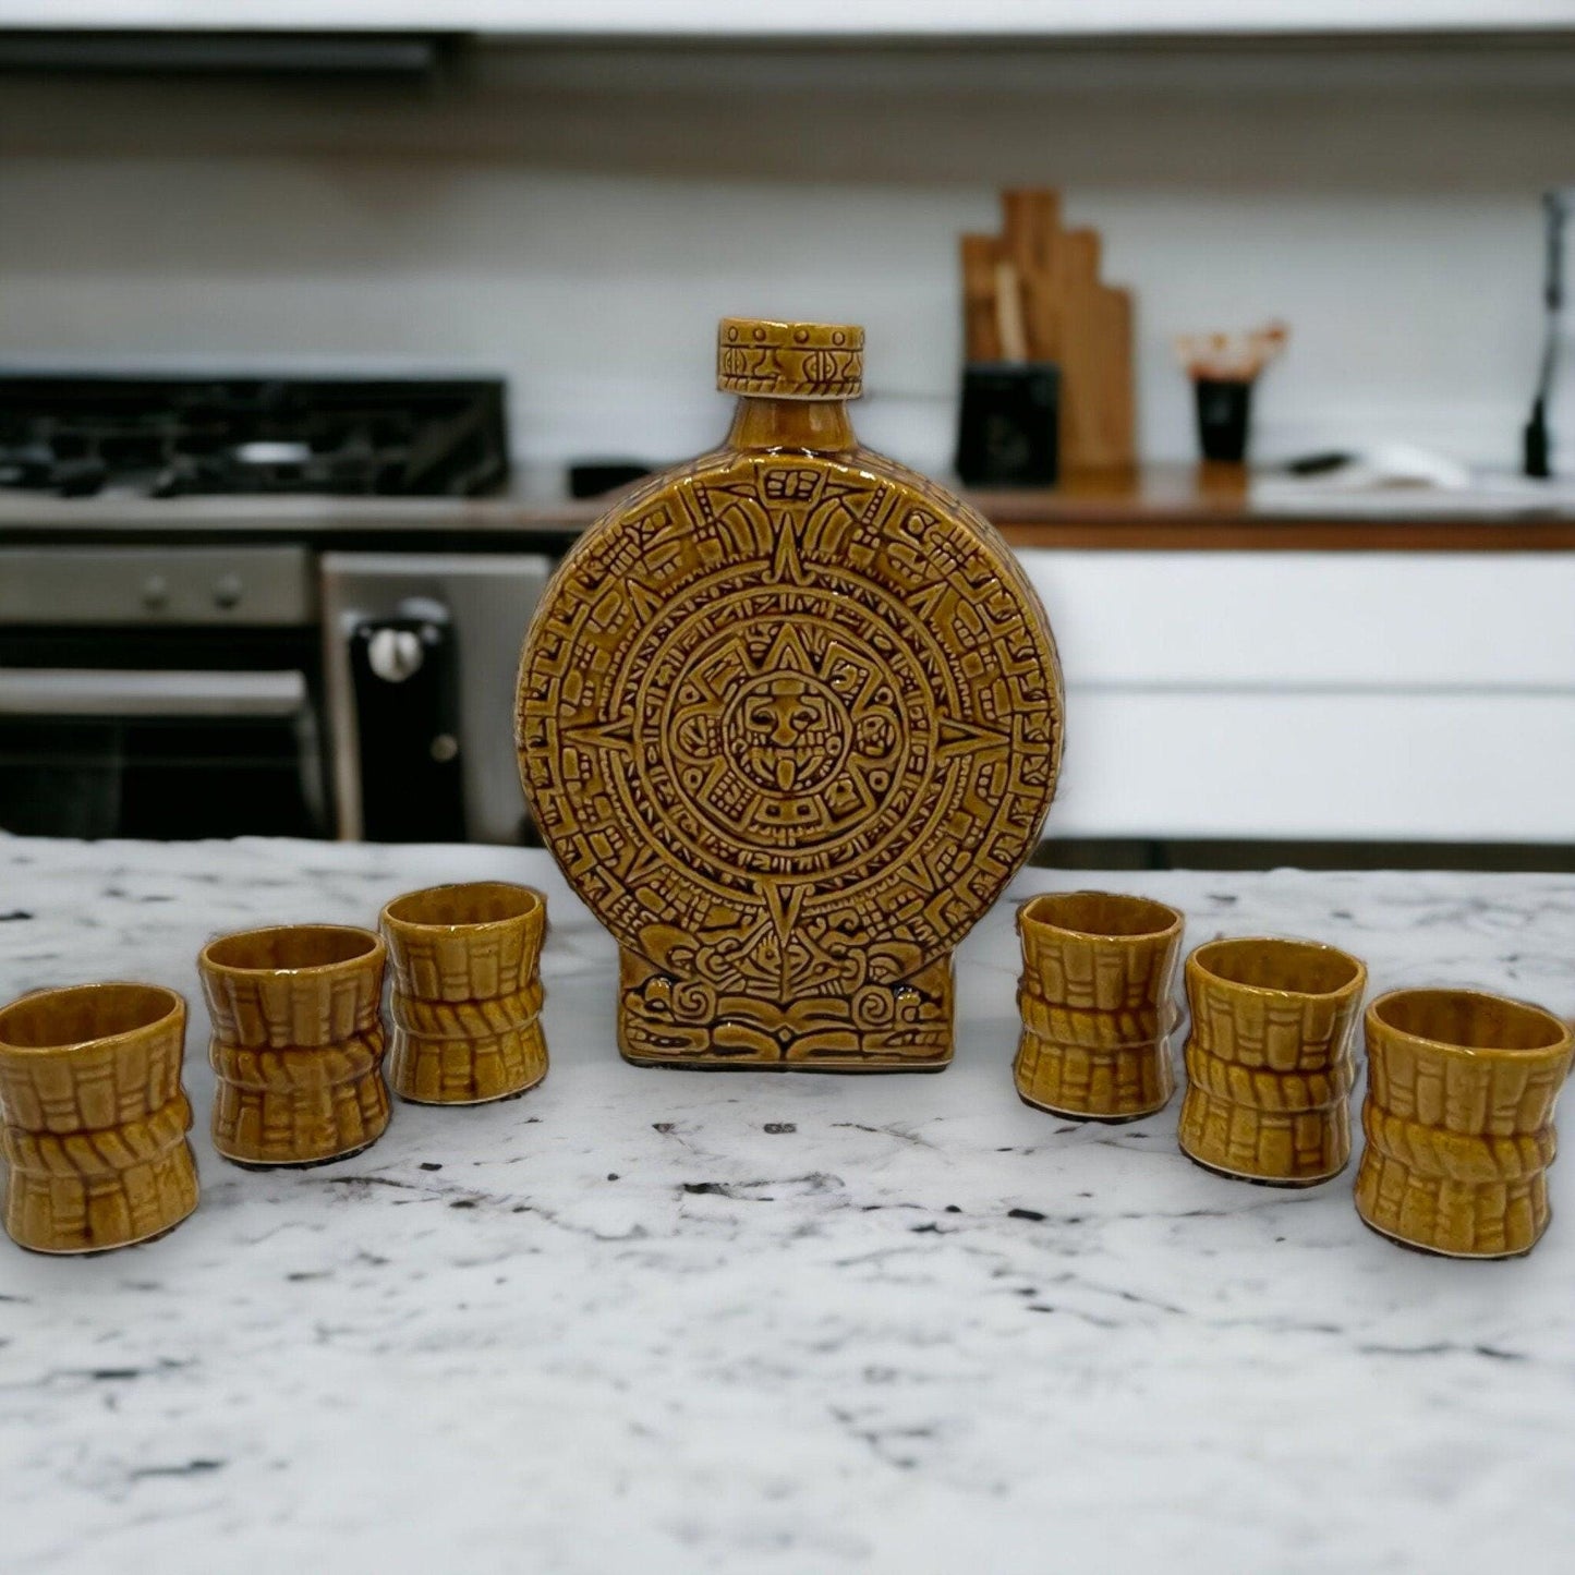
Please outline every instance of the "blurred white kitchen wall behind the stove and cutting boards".
M942 468L954 239L1066 192L1140 315L1142 446L1192 454L1169 335L1292 323L1260 455L1515 463L1575 54L495 50L432 91L0 80L0 356L499 369L521 457L715 436L724 312L869 331L868 441Z

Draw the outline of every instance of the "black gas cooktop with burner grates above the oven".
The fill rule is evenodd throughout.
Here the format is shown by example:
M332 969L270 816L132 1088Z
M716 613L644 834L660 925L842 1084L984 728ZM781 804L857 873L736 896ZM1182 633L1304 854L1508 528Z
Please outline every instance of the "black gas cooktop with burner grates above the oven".
M0 375L0 487L465 498L507 476L495 378Z

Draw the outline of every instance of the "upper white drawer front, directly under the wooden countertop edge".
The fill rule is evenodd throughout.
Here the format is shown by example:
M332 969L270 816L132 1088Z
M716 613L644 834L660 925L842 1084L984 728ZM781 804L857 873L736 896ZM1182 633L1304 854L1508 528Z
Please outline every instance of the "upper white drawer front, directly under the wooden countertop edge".
M1575 554L1019 554L1068 685L1575 691Z

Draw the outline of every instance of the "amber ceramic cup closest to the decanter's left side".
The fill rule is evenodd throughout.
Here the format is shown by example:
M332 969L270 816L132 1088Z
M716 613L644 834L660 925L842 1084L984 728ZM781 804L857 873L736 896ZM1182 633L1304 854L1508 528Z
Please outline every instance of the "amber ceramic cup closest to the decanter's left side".
M408 891L383 909L394 964L389 1082L416 1104L485 1104L547 1076L547 898L502 880Z

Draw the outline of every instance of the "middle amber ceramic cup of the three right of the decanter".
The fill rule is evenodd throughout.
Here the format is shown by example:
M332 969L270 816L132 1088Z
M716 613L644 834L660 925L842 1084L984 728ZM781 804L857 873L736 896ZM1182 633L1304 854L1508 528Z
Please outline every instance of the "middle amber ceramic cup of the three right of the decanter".
M1367 970L1314 940L1211 940L1186 959L1181 1151L1206 1170L1314 1186L1351 1156L1351 1035Z

